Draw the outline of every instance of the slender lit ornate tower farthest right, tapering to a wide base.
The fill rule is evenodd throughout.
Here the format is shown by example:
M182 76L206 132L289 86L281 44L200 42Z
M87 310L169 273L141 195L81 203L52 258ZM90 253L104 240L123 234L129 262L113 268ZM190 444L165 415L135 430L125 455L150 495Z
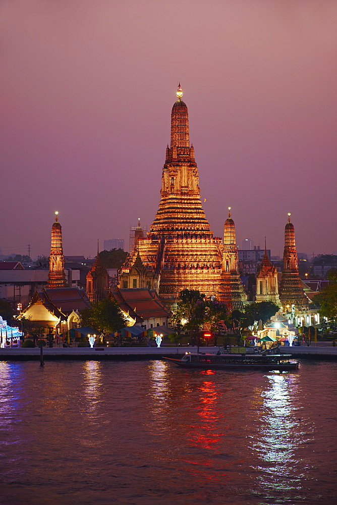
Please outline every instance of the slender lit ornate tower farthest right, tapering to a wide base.
M285 250L279 298L284 310L287 306L291 307L292 305L295 305L297 310L308 309L308 298L304 294L298 271L295 229L290 222L290 213L288 214L288 223L285 229Z

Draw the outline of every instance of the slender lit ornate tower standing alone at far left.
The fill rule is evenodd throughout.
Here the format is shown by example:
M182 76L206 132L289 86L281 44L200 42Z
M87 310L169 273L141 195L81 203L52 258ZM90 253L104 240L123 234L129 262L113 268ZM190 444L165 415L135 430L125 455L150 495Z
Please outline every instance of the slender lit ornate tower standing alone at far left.
M48 288L67 287L62 248L62 227L58 221L58 214L58 212L55 212L55 222L51 227Z

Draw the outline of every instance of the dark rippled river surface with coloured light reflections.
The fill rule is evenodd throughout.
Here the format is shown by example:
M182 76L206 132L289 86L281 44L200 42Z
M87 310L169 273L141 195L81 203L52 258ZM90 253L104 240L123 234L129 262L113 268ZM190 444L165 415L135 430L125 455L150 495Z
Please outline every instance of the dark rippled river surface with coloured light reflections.
M0 363L0 502L337 502L337 363Z

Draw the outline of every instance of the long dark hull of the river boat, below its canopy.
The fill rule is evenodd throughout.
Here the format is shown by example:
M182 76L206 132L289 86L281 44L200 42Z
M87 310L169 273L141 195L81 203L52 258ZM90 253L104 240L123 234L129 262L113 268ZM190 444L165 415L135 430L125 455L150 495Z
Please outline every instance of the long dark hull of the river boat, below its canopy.
M190 361L181 361L174 358L164 358L173 362L175 365L183 368L197 368L201 370L277 370L286 372L288 370L297 370L297 362L287 363L196 363Z

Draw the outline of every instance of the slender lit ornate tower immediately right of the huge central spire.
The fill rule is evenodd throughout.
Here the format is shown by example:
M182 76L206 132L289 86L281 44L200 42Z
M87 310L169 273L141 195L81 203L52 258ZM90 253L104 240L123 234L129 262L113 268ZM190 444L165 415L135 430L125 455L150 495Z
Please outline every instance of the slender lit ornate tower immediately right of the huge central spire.
M219 298L227 304L228 310L243 310L247 301L239 275L238 249L236 246L235 224L228 208L228 219L223 227L223 256Z

